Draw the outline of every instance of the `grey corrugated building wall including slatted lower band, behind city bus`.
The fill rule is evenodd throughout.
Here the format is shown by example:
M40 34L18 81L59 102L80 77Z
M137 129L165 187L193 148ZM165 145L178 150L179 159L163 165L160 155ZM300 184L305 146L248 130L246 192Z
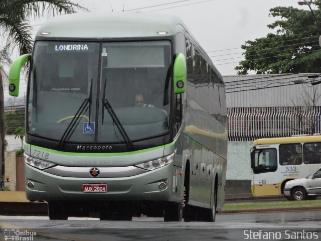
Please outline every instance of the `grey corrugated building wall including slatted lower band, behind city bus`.
M313 88L295 84L306 79L306 74L224 76L229 141L301 135L313 128L320 133L321 98L317 106L307 106L300 98ZM321 95L321 84L316 87Z

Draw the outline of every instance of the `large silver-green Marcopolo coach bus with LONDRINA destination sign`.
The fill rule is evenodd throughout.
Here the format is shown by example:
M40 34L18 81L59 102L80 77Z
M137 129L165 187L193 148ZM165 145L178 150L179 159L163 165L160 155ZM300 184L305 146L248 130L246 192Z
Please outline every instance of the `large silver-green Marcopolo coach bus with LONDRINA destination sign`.
M226 179L225 87L179 18L55 17L32 54L12 64L13 96L27 62L26 195L47 201L50 219L215 221Z

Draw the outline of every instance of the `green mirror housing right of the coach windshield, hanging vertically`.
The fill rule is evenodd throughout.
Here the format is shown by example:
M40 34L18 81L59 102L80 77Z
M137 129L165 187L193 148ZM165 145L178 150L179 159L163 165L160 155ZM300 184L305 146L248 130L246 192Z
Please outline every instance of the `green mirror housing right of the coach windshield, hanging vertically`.
M184 54L176 55L174 62L174 92L175 94L184 93L186 90L186 59Z

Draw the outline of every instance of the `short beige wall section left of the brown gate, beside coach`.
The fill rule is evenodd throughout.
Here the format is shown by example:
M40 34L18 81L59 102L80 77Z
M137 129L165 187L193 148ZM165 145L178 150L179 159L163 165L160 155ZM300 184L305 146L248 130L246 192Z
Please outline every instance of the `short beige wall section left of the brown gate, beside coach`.
M5 165L5 188L16 191L16 152L5 152ZM9 182L6 182L6 175L9 175Z

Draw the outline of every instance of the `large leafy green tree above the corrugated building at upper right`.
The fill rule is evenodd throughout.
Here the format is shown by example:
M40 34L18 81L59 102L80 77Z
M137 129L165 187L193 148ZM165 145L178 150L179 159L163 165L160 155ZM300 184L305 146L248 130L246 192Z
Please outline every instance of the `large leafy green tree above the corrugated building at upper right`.
M316 7L313 10L316 19L321 21L321 0L311 4ZM235 68L238 74L248 74L250 70L257 74L319 72L321 51L318 37L321 33L309 8L276 7L269 12L270 16L278 17L268 25L275 33L242 45L245 60Z

